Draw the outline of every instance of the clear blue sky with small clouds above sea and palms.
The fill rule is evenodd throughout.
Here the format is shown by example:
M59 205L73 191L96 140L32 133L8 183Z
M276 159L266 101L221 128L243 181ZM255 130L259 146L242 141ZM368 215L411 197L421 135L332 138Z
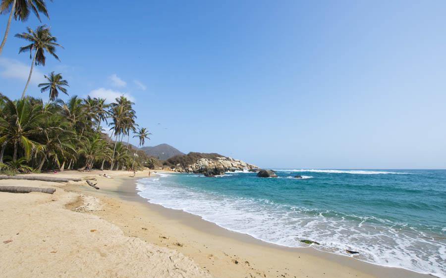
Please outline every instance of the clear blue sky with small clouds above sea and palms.
M64 49L27 93L48 99L37 84L56 71L70 96L124 94L146 145L269 168L446 168L446 1L47 2ZM39 24L12 22L11 98L30 67L13 35Z

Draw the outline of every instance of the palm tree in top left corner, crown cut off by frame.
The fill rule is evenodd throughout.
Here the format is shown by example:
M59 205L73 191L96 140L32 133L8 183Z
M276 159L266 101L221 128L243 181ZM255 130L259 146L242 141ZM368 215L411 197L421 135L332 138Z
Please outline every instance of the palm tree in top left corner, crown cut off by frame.
M6 43L8 37L9 27L11 25L12 15L15 20L26 21L29 16L29 10L32 10L40 21L39 12L45 14L48 18L47 7L45 0L1 0L0 2L0 14L9 11L8 23L6 24L6 30L4 31L3 40L0 44L0 55L3 50L3 46Z

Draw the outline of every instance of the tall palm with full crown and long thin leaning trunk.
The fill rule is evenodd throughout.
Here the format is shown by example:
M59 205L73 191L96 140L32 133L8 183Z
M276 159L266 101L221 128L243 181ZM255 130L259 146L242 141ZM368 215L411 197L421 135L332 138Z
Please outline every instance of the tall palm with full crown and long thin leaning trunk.
M20 34L16 34L15 37L27 40L31 42L31 44L27 46L20 47L19 53L29 51L29 57L32 58L31 62L31 70L29 71L28 81L26 82L25 89L22 93L22 98L25 97L26 89L28 88L29 81L31 80L31 75L33 74L34 64L36 66L43 65L45 66L45 50L48 53L53 55L57 60L60 61L59 57L56 55L56 46L60 46L56 43L56 37L53 37L50 32L50 28L47 25L37 26L36 30L33 31L31 28L27 28L28 32L23 32ZM62 47L62 46L60 46ZM62 47L63 48L63 47ZM34 56L32 52L34 50Z

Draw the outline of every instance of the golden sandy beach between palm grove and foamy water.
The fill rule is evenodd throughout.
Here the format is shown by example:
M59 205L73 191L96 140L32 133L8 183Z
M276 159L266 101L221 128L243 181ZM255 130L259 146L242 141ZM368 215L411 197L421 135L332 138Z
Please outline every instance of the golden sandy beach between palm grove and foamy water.
M2 277L428 277L268 244L150 204L135 189L148 172L39 175L96 179L100 189L85 181L1 180L56 188L53 195L0 192L0 256L8 258L0 262Z

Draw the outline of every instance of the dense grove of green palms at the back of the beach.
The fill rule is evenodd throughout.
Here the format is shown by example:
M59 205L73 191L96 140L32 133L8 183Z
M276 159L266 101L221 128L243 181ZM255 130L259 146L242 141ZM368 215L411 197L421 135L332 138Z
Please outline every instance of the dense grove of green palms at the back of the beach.
M67 102L43 103L32 97L11 100L0 94L1 171L141 168L147 156L142 151L133 155L136 151L122 142L135 125L135 114L128 112L132 110L131 103L121 96L111 103L110 110L106 107L98 98L72 96ZM120 111L125 118L114 111ZM115 141L98 128L108 117L113 119ZM138 135L148 134L144 129Z

